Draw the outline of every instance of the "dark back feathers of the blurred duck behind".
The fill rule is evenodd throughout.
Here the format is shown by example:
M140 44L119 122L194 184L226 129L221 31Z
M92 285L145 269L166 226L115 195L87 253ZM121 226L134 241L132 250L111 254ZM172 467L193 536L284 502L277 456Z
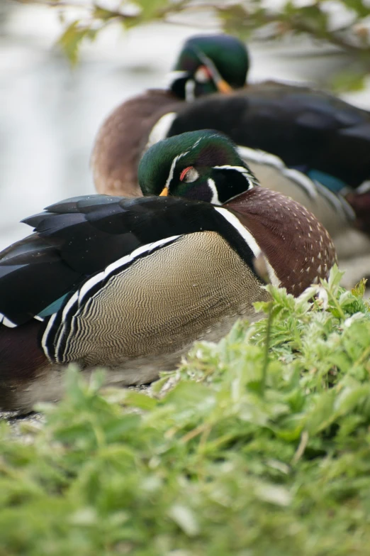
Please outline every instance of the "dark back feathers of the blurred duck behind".
M352 187L370 178L370 113L324 92L264 82L214 94L181 107L168 136L208 128L308 175L320 170Z

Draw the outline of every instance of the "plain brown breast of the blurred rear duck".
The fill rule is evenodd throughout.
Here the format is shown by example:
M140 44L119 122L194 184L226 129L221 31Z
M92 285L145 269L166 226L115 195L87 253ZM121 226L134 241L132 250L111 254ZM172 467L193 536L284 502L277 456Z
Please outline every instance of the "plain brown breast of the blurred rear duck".
M162 89L150 89L120 104L104 121L91 155L96 190L106 195L141 197L138 163L152 127L181 101Z

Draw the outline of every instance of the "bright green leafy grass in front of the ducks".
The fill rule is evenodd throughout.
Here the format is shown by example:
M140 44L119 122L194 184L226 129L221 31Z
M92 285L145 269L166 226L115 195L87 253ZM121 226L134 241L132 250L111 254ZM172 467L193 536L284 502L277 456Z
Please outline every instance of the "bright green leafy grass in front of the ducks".
M0 555L367 554L370 311L339 280L269 286L152 398L70 369L27 442L1 423Z

